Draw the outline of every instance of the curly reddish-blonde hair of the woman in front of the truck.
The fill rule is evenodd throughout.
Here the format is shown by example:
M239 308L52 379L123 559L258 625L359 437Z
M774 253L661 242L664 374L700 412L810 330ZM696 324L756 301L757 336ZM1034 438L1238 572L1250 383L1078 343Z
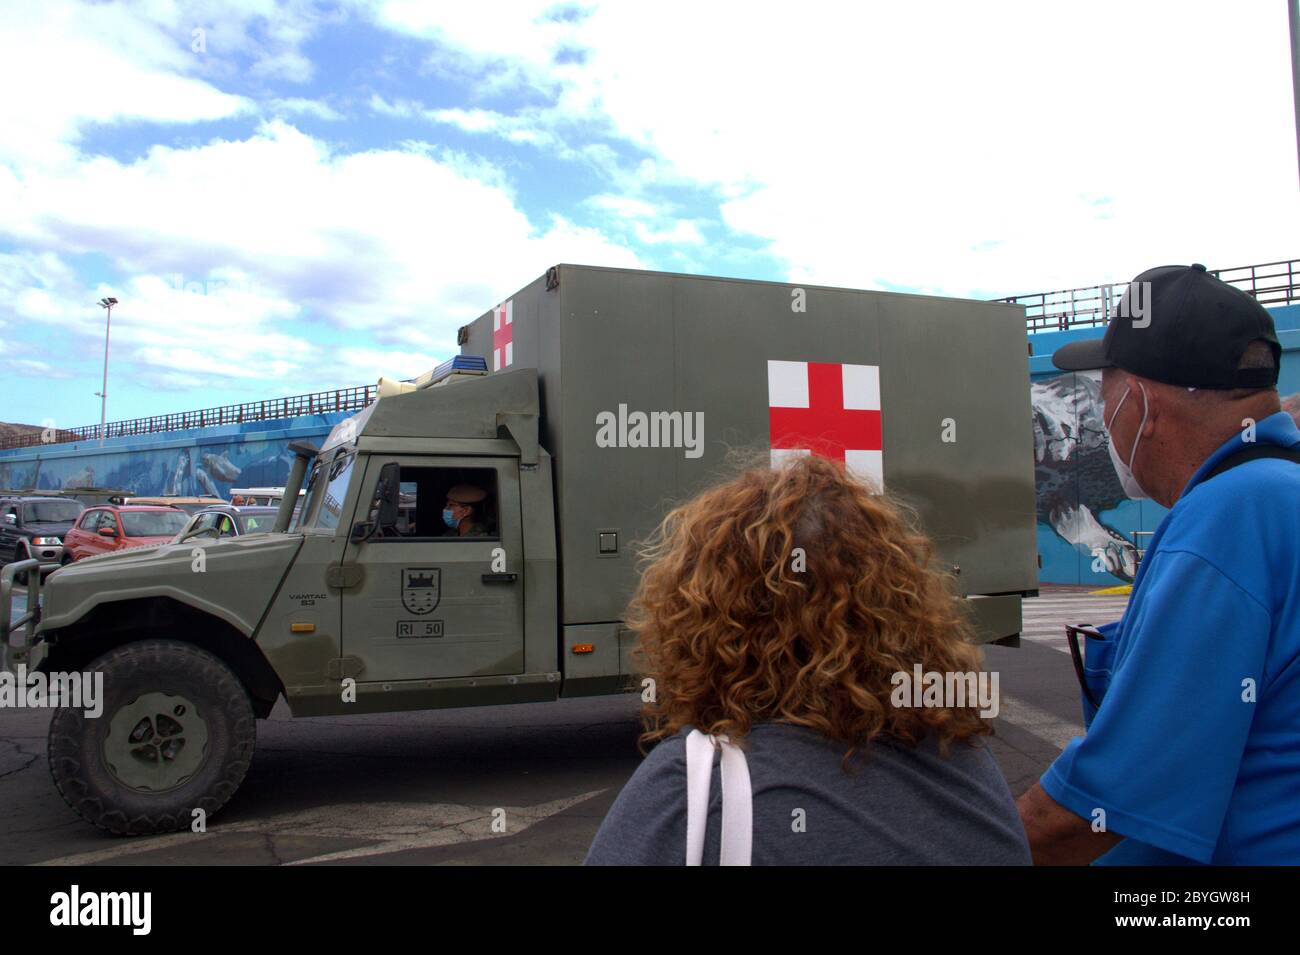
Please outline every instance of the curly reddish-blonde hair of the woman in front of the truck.
M978 672L980 654L911 512L842 464L751 468L670 512L641 555L642 745L783 721L845 743L848 767L878 737L946 752L992 733L974 706L890 703L893 674Z

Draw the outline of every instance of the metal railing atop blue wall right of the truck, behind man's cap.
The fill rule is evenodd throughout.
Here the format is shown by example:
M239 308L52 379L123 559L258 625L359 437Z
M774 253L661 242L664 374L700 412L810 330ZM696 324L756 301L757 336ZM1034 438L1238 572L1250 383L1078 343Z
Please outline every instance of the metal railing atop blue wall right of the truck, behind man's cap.
M1253 295L1261 305L1300 303L1300 259L1232 269L1210 269L1223 282ZM996 301L1024 305L1030 331L1065 331L1105 325L1128 287L1127 282L1011 295Z

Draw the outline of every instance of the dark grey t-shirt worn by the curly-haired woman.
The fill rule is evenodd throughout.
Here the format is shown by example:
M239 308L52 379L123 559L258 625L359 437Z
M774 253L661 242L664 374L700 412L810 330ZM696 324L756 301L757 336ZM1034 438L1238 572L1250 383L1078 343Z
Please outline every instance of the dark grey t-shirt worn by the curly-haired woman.
M588 865L685 864L688 733L664 739L637 767ZM849 772L841 768L846 748L806 726L751 728L754 865L1030 864L1015 802L983 743L954 743L944 758L932 741L914 750L876 741L854 754ZM720 833L715 755L705 865L718 864Z

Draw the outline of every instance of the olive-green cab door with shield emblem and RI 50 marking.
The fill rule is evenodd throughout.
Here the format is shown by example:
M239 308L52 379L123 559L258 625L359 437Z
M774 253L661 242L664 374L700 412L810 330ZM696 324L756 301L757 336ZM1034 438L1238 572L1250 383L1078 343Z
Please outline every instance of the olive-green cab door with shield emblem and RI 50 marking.
M374 500L385 464L400 468L398 526L350 541L359 583L342 600L343 654L358 682L524 672L524 554L519 461L511 457L367 456L360 502ZM474 534L443 521L452 487L481 489ZM367 520L364 507L356 520ZM355 573L355 572L354 572Z

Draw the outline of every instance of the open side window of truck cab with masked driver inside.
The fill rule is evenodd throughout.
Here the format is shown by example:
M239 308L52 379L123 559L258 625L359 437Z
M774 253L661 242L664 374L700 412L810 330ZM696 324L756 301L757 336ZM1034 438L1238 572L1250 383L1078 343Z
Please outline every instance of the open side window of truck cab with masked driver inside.
M428 541L472 538L499 539L500 528L497 511L497 472L493 468L421 468L402 466L398 522L384 539ZM378 490L378 489L376 489ZM443 520L448 495L472 503L456 508L468 516L452 528ZM370 508L370 520L378 513ZM464 526L464 534L460 533Z

